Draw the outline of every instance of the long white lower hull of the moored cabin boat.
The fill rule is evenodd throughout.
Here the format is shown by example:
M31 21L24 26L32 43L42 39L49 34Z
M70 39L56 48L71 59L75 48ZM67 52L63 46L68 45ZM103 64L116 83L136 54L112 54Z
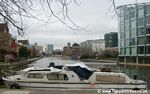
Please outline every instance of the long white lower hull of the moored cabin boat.
M7 82L8 86L15 84L20 88L59 88L59 89L142 89L147 86L143 84L115 84L115 83L54 83L54 82Z

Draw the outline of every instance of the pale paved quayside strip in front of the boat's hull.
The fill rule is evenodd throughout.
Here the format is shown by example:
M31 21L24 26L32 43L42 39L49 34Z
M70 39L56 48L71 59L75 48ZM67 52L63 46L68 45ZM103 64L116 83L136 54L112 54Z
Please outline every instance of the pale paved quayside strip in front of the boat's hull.
M150 93L101 93L101 90L0 90L0 94L150 94Z

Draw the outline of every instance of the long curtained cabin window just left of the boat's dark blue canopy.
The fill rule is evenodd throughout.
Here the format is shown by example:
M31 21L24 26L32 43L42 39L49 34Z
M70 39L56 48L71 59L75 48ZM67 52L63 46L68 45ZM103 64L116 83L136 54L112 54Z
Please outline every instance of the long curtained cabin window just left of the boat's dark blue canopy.
M66 74L47 74L48 80L68 80Z

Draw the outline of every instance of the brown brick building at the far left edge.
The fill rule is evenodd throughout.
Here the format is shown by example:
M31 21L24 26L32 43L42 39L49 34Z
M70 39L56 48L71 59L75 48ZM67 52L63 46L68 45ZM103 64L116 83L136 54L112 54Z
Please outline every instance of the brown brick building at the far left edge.
M12 35L9 33L7 23L0 23L0 48L11 51Z

